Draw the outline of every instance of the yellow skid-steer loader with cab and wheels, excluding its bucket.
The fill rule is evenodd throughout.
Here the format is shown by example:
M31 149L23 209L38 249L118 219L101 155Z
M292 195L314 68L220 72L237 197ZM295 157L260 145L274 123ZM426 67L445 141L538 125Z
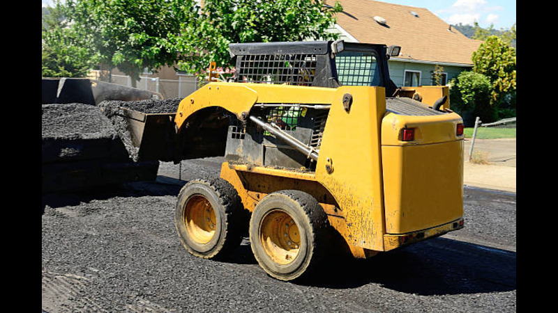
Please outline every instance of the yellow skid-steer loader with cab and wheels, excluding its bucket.
M328 257L332 236L367 258L462 228L462 118L446 86L395 86L398 50L230 45L234 78L199 88L174 116L176 161L225 157L218 179L179 193L188 252L224 257L248 232L264 271L294 280Z

